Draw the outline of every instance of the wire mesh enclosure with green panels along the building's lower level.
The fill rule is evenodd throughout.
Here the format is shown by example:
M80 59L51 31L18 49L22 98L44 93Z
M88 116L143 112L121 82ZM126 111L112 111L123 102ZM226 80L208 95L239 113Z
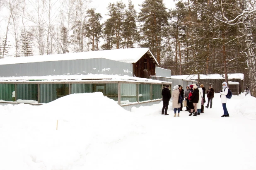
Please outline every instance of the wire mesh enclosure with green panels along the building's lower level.
M0 84L0 102L43 104L74 93L101 92L104 96L127 105L162 99L162 83L136 82L65 82Z

